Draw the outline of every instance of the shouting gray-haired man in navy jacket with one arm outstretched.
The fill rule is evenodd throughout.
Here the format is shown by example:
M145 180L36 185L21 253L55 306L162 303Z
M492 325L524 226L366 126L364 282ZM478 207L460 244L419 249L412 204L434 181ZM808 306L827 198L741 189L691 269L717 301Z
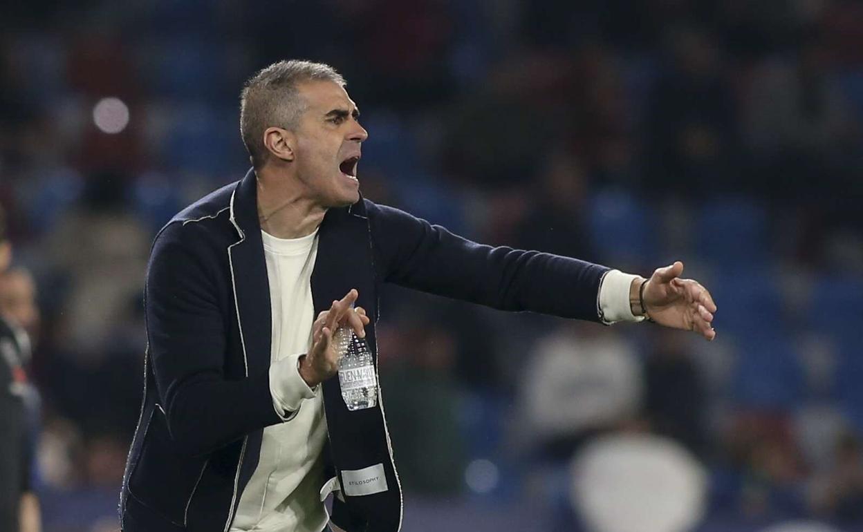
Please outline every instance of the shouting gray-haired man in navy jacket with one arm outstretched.
M647 311L715 335L715 305L679 279L679 262L645 283L482 246L363 200L356 167L368 133L344 85L306 61L249 79L240 130L253 168L155 239L146 386L120 504L126 532L400 529L382 397L350 411L332 378L335 329L354 329L376 355L381 283L595 322ZM333 491L330 519L322 501Z

